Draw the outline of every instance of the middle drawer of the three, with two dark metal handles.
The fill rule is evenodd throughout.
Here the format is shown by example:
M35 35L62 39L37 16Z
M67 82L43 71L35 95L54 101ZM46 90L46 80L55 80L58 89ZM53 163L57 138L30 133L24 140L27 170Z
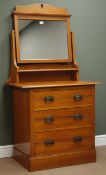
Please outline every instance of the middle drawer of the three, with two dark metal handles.
M73 108L36 111L32 115L33 130L75 128L94 124L94 108Z

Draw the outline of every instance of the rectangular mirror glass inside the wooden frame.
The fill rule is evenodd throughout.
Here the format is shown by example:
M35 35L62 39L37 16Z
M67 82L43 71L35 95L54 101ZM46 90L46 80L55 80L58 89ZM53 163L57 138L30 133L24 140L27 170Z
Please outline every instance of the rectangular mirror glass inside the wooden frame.
M19 20L20 60L68 59L64 21Z

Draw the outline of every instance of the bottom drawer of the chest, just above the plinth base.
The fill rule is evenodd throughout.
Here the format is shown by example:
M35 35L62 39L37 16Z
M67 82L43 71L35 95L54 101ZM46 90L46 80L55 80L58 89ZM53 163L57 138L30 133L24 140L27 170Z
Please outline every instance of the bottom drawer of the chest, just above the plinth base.
M91 148L92 137L90 128L35 134L35 155L49 155Z

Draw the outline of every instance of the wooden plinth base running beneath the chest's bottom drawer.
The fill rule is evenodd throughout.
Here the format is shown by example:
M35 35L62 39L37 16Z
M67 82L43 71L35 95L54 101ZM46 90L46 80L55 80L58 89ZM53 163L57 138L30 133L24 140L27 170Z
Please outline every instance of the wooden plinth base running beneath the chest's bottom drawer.
M29 171L38 171L56 167L91 163L96 161L95 149L80 152L55 154L51 156L28 157L18 149L14 149L15 160L21 163Z

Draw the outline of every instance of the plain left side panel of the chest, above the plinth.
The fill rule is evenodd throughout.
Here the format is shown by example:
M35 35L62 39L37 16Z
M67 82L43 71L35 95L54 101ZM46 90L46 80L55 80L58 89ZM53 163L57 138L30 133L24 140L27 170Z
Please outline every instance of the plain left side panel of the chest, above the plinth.
M13 89L14 144L25 154L30 154L30 122L27 91Z

